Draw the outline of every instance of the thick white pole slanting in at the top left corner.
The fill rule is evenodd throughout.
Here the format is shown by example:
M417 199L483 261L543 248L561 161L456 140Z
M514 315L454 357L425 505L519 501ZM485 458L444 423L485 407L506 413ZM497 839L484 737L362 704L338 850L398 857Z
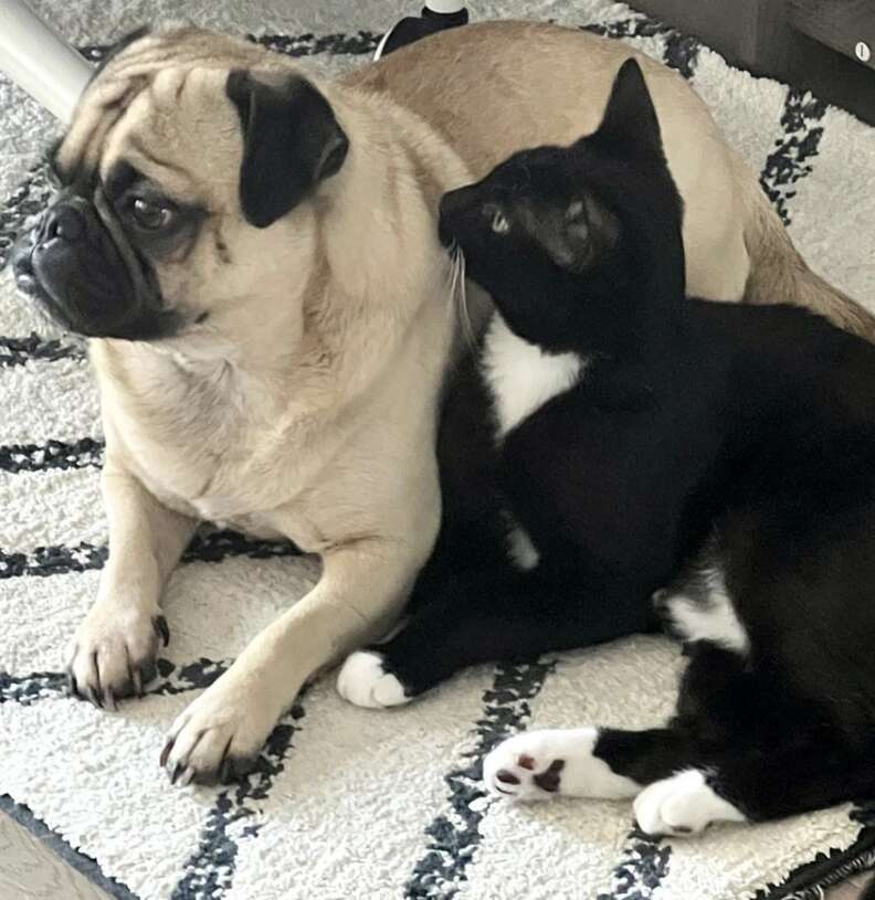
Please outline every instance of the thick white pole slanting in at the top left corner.
M24 0L0 0L0 70L64 125L94 71Z

